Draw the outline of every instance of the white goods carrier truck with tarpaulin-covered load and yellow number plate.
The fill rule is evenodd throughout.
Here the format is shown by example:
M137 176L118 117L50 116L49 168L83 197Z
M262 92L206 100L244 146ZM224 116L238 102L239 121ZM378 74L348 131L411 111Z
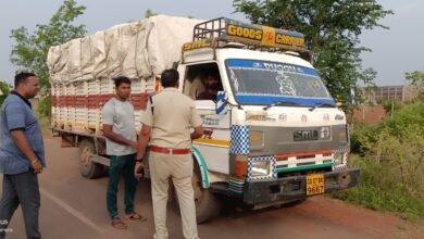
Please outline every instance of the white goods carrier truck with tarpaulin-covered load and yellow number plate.
M205 131L191 149L198 223L216 216L223 198L258 210L359 183L360 171L349 168L346 114L311 64L301 33L157 15L52 47L47 62L52 130L63 147L79 148L87 178L109 165L101 109L114 95L112 79L132 79L139 131L161 72L179 72L179 90L196 101ZM197 99L211 73L220 78L216 98Z

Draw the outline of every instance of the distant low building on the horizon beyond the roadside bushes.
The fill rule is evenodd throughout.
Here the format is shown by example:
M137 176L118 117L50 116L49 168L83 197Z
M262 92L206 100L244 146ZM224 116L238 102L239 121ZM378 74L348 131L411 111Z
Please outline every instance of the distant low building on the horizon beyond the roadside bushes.
M408 102L416 98L414 86L378 86L361 88L365 102L376 103L382 100Z

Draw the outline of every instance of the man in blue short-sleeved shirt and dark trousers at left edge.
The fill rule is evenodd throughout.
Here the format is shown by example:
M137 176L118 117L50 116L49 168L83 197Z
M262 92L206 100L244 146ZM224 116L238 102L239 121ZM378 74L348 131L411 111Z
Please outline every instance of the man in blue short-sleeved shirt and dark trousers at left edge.
M37 175L42 172L45 147L42 135L28 99L40 90L33 73L15 76L15 91L0 110L0 173L3 193L0 200L0 238L14 211L21 204L27 238L41 238L38 227L40 192Z

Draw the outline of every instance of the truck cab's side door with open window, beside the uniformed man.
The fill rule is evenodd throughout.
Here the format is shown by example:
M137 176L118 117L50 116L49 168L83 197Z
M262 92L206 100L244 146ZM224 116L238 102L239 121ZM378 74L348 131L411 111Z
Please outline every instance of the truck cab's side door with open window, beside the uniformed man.
M221 79L215 62L187 65L183 92L195 100L203 120L204 135L194 141L194 147L208 171L228 174L230 111L227 111L227 92Z

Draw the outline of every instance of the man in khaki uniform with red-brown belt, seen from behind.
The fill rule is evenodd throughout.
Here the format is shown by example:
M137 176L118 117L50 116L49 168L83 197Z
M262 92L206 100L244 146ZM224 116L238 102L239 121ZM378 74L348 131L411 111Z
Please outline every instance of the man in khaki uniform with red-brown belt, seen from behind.
M167 238L166 202L169 178L178 194L183 234L187 239L198 238L196 207L191 186L194 160L191 140L203 135L202 120L195 102L178 91L179 75L175 70L162 73L165 88L153 96L141 116L142 128L138 141L135 175L142 167L142 155L150 138L149 168L151 176L155 239ZM195 128L190 134L190 129Z

